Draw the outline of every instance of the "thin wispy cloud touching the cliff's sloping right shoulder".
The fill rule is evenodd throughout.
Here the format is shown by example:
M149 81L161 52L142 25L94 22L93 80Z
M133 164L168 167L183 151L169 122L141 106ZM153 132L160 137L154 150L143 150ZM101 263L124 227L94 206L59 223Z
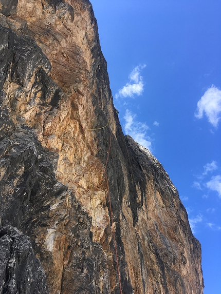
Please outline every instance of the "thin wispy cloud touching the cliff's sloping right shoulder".
M136 120L136 114L133 114L130 110L126 110L124 115L125 125L124 130L126 134L132 136L143 147L151 151L151 138L147 135L149 127L146 124L138 122Z

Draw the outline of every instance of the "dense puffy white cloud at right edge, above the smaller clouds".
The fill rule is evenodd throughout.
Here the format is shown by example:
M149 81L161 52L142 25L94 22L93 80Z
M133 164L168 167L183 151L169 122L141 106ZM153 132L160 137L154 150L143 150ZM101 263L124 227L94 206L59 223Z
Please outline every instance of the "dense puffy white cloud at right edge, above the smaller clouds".
M209 122L214 127L217 127L221 112L221 91L214 85L212 85L198 101L197 113L195 113L197 119L201 119L202 116L204 116L204 112Z

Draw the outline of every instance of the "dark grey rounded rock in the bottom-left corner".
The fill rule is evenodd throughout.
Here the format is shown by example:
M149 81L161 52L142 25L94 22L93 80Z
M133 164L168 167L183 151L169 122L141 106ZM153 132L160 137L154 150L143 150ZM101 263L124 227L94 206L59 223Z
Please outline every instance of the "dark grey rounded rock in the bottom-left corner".
M0 228L0 293L48 294L30 238L8 225Z

